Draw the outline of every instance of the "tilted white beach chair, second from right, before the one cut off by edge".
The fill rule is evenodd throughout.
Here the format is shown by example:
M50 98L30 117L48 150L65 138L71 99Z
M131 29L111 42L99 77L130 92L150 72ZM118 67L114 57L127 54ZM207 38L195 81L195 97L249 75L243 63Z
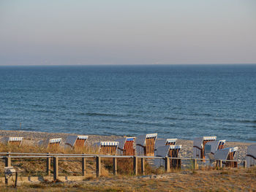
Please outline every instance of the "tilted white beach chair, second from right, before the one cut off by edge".
M223 161L223 160L234 160L234 156L237 150L238 150L238 147L228 147L225 149L217 150L214 153L214 159L217 160L217 163L219 162L218 160L222 160L222 164L225 164L225 166L237 167L238 164L236 161L233 161L233 162Z

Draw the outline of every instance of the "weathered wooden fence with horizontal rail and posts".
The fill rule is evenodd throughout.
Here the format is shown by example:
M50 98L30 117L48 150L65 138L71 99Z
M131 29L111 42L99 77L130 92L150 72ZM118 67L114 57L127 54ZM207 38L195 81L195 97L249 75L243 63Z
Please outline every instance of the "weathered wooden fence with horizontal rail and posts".
M96 161L96 174L97 177L101 175L102 167L102 158L112 158L113 159L113 174L116 175L118 172L117 169L117 159L118 158L132 158L133 164L133 174L138 174L138 161L140 159L140 171L141 174L145 174L145 160L146 159L162 159L164 160L164 169L165 172L170 172L170 161L179 160L179 161L192 161L193 169L197 169L198 162L211 161L209 159L203 158L170 158L170 157L157 157L157 156L132 156L132 155L96 155L96 154L65 154L65 153L0 153L0 158L4 158L5 166L12 166L13 158L45 158L46 159L46 174L50 176L50 166L51 160L53 160L53 180L59 179L59 158L81 158L81 174L86 175L86 158L94 158ZM246 167L246 161L237 161L237 160L221 160L215 159L211 161L216 163L217 166L222 167L224 162L236 162L244 163ZM8 180L5 180L5 183L8 183Z

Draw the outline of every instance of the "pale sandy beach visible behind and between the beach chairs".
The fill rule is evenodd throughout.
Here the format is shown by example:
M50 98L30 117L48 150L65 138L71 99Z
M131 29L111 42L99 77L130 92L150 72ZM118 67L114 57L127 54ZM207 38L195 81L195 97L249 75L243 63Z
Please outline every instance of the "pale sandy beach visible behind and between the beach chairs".
M24 143L28 145L34 145L39 140L50 139L50 138L62 138L65 142L67 136L78 135L78 134L64 134L64 133L47 133L47 132L36 132L36 131L0 131L0 141L3 137L23 137ZM121 136L105 136L105 135L90 135L87 141L87 145L93 145L95 142L100 141L114 141L115 139L121 138ZM238 152L235 155L236 160L245 160L246 151L249 145L255 143L249 142L226 142L225 147L238 147ZM192 140L178 139L176 145L182 145L180 157L192 158Z

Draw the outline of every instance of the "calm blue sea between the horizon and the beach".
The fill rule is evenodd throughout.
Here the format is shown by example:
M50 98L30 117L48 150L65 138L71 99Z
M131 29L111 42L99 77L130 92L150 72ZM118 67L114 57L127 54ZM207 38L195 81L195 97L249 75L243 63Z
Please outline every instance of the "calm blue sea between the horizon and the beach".
M0 66L0 129L256 141L256 65Z

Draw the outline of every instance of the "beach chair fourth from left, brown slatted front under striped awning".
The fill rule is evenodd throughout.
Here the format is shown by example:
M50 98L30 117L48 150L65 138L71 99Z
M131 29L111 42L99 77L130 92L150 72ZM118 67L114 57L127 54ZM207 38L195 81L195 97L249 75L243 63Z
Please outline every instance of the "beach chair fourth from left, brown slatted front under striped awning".
M99 147L99 153L104 155L116 155L118 142L97 142L96 144Z

